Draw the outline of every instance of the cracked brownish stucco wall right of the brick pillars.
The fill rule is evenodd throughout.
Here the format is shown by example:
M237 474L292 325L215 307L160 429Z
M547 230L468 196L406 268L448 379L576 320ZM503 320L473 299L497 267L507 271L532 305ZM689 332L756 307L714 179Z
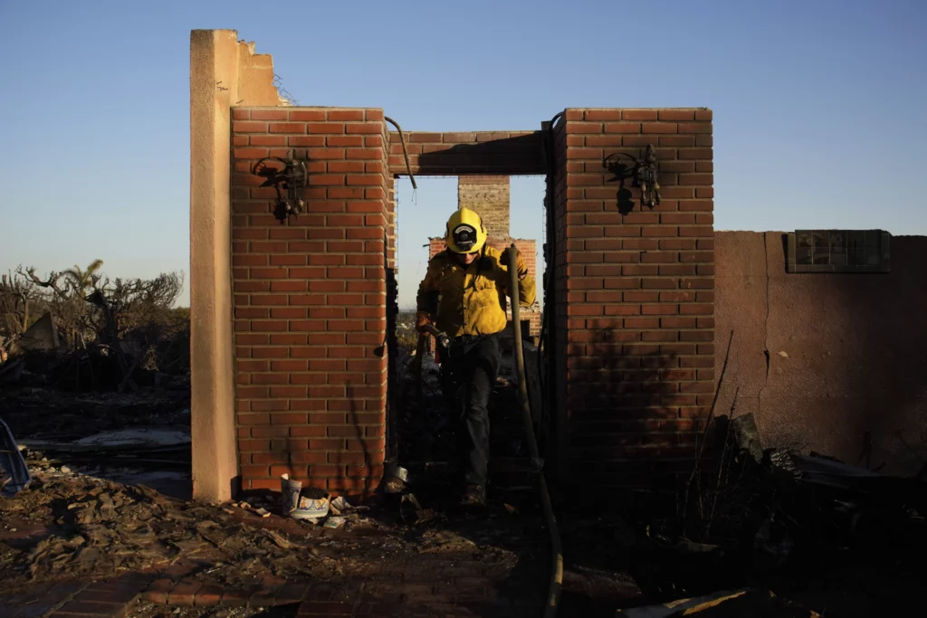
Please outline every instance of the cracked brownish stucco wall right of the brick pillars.
M916 471L911 448L927 443L927 237L893 237L888 274L787 274L783 235L715 235L717 376L734 331L717 413L736 393L735 414L756 413L764 447L849 463L870 432L873 466Z

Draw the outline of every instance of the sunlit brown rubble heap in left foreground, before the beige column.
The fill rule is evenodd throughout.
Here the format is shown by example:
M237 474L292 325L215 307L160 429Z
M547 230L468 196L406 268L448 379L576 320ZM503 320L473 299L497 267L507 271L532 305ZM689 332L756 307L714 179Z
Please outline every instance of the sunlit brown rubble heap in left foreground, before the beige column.
M32 547L0 545L0 576L11 586L62 575L137 572L181 555L210 552L220 561L240 562L236 572L242 576L254 562L260 562L256 571L263 574L286 574L298 562L288 551L293 544L273 530L237 521L219 507L166 498L146 486L37 475L30 490L0 501L0 512L5 522L37 523L47 530Z

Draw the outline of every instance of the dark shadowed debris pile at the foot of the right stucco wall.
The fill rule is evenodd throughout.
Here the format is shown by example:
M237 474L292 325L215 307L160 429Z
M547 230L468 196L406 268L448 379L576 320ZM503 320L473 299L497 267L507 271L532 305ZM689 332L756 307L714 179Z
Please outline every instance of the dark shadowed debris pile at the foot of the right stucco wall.
M762 448L750 414L722 417L719 454L681 505L683 536L752 546L779 564L793 549L862 548L921 539L927 483L794 449Z

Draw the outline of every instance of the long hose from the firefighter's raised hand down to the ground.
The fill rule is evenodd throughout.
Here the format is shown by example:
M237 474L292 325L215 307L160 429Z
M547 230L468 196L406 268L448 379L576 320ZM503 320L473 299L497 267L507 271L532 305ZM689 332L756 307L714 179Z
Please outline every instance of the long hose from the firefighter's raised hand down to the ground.
M522 423L525 423L525 437L528 450L531 452L531 461L538 466L538 486L540 487L540 501L547 518L547 528L551 533L551 585L548 589L547 606L544 608L544 617L553 618L557 615L557 606L560 602L560 592L564 583L564 550L560 542L560 531L557 529L557 519L553 514L551 496L547 492L547 480L544 478L544 469L540 465L540 452L538 441L534 435L534 419L531 418L530 401L527 396L527 377L525 375L525 353L522 348L521 324L519 323L518 303L518 250L514 244L506 249L508 252L509 294L512 296L512 331L515 338L515 367L518 375L518 397L521 399Z

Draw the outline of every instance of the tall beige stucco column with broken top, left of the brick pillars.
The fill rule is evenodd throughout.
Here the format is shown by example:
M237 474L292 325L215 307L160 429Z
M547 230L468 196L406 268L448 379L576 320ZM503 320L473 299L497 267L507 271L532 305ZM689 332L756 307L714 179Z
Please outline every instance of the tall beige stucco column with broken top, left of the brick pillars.
M193 496L233 495L231 107L276 106L273 60L232 30L190 33L190 363Z

